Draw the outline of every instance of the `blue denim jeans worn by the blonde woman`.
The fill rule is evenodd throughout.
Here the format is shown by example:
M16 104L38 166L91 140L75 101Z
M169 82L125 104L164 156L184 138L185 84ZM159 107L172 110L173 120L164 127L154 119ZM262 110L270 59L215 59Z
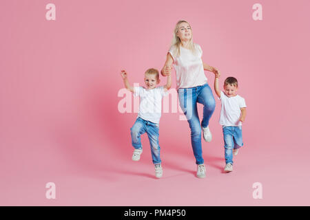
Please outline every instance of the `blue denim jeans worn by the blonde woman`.
M216 105L214 96L209 85L206 83L198 87L178 89L178 100L191 129L191 141L196 164L203 164L201 126L207 127L209 125L209 120ZM201 126L197 111L197 102L203 104L203 120Z

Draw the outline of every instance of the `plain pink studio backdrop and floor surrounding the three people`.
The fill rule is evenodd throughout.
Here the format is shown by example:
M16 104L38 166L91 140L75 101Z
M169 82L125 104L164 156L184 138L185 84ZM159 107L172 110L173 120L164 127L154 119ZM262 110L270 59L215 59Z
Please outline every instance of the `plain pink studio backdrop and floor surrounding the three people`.
M45 19L48 3L56 21ZM252 19L254 3L262 21ZM309 8L307 0L1 0L0 205L309 206ZM162 179L146 136L141 161L131 160L136 113L118 112L119 72L142 84L147 68L161 69L179 19L221 82L238 78L247 102L233 173L223 173L218 100L214 140L203 142L205 179L195 177L180 113L161 118ZM48 182L56 199L45 198ZM255 182L262 199L252 197Z

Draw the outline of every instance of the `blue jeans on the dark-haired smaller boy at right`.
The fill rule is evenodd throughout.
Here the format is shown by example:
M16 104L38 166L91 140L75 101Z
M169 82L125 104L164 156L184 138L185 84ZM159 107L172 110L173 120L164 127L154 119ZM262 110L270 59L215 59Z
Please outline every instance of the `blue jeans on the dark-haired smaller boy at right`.
M223 126L225 162L233 164L233 149L243 146L242 126Z

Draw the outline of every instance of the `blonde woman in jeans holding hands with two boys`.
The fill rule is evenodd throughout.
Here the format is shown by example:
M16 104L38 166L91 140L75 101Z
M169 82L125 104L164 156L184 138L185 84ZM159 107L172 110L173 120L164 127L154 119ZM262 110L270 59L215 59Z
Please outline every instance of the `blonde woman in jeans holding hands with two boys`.
M209 119L214 112L216 102L207 84L205 70L219 74L217 69L203 63L203 51L200 45L193 42L192 28L187 21L178 21L174 29L174 39L167 54L167 60L161 74L169 76L172 64L176 69L176 89L180 107L187 117L191 129L191 140L197 164L197 177L205 177L205 164L201 148L201 130L206 142L211 142ZM203 120L197 111L197 102L203 104Z

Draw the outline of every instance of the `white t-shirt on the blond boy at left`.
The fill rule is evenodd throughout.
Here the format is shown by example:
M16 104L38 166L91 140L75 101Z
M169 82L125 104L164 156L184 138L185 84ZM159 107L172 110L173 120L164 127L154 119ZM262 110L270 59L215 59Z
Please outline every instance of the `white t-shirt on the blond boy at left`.
M161 119L161 100L163 96L167 96L164 87L134 87L134 96L140 96L138 117L158 124Z

